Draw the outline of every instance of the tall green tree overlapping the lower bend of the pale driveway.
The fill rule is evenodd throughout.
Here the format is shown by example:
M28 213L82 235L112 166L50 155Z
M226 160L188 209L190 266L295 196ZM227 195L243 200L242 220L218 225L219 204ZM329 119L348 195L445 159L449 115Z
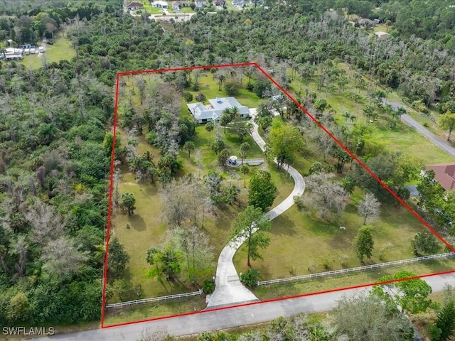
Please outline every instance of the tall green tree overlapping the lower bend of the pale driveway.
M230 239L231 244L247 242L247 266L251 266L250 259L262 259L259 249L264 249L270 243L270 238L264 234L272 226L267 215L261 208L247 206L232 222Z

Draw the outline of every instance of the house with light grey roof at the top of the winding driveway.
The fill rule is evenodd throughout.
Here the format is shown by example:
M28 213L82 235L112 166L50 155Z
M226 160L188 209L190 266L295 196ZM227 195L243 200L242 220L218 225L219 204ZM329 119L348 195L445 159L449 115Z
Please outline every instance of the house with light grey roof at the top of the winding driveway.
M240 104L234 97L217 97L216 99L209 99L210 105L204 105L200 102L186 104L188 110L198 123L205 123L216 121L223 114L224 109L237 107L239 110L239 117L248 117L250 109Z

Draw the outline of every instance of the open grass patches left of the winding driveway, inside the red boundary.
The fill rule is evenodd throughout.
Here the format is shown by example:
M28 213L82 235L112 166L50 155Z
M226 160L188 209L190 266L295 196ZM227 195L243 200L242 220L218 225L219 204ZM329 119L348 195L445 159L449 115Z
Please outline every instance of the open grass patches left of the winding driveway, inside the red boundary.
M153 80L153 77L150 77L146 82ZM206 95L213 95L216 97L218 92L213 91L205 85L212 84L211 75L208 77L200 77L200 84L204 87ZM125 100L131 101L134 106L139 105L139 94L131 94L129 92L132 89L134 82L134 77L125 77L122 80L126 83L128 99L122 98L119 101L119 107L122 107L122 103ZM216 86L216 85L215 85ZM216 86L218 89L218 86ZM255 105L253 102L255 97L252 97L250 94L242 97L246 102ZM240 99L242 100L242 99ZM256 97L257 101L257 97ZM181 102L181 117L188 117L188 109L186 109L186 104ZM243 103L242 103L243 104ZM230 224L232 220L238 215L238 212L245 208L247 205L247 188L244 188L244 178L243 175L238 173L238 168L226 168L220 167L216 160L215 153L210 149L208 144L209 133L205 130L204 125L199 125L196 127L197 138L194 143L196 145L196 150L200 150L201 160L203 162L204 168L203 173L208 172L209 170L221 171L225 183L235 183L241 188L240 193L240 207L238 205L223 205L217 210L217 219L207 219L204 224L205 232L207 232L210 242L214 247L216 259L218 259L218 254L221 249L225 247L225 244L228 242L228 236L230 231ZM126 137L122 129L118 129L119 135L121 136L121 142L124 146L126 144ZM144 129L144 135L146 134L146 129ZM240 151L240 141L238 136L231 134L229 129L224 132L224 129L221 131L225 144L228 148L228 151L232 155L238 155ZM156 148L150 146L144 135L138 136L138 145L137 153L143 155L146 151L150 151L154 155L154 162L156 163L159 159L159 151ZM211 133L211 141L215 139L215 131ZM259 149L257 144L252 140L251 136L245 138L245 142L250 144L250 151L247 153L247 158L262 158L262 151ZM195 153L191 153L191 157L188 157L188 152L180 151L179 158L183 164L183 171L181 171L178 176L186 176L190 173L195 173L197 171ZM275 199L274 205L277 205L278 202L281 202L284 197L287 197L291 190L294 188L294 182L289 178L284 171L278 171L276 166L268 166L267 162L261 166L264 169L267 169L271 175L272 180L277 184L277 197ZM183 293L188 291L194 291L196 288L186 285L186 283L168 283L164 281L160 283L159 281L153 280L146 276L148 269L150 268L149 264L146 263L146 251L150 247L156 246L160 243L161 237L164 235L166 230L166 225L162 222L161 219L161 203L159 197L159 185L151 183L141 183L140 185L134 179L134 175L129 172L127 166L121 166L122 170L122 180L119 183L119 192L120 193L133 193L134 197L137 200L137 209L134 212L134 215L129 217L128 215L121 212L119 209L115 209L112 215L112 235L118 237L119 240L124 244L127 252L130 254L131 259L127 266L126 278L132 282L132 286L137 283L141 284L142 294L141 297L156 297L164 296L172 293ZM255 168L252 168L253 172ZM252 176L252 172L247 175L246 183L248 185L249 180ZM130 228L127 228L129 224ZM215 271L215 268L213 269ZM137 297L130 297L127 299L135 299ZM112 302L119 301L116 297L112 298Z

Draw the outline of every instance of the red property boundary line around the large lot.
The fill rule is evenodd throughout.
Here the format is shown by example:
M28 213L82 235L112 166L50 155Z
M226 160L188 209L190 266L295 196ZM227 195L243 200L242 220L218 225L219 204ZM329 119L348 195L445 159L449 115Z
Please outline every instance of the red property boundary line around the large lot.
M112 215L112 188L113 188L113 177L114 177L115 137L116 137L116 131L117 131L117 113L118 113L118 104L119 104L119 82L120 82L120 77L124 76L124 75L142 75L142 74L150 74L150 73L176 72L176 71L184 71L184 70L210 70L212 68L247 67L247 66L256 67L257 70L262 72L262 74L265 77L267 77L267 79L270 80L270 82L272 82L279 90L281 90L284 94L286 94L286 96L292 102L294 102L294 104L296 104L296 106L299 107L299 109L301 109L311 120L314 121L315 124L317 124L323 131L325 131L326 134L328 136L330 136L331 139L333 139L333 141L336 142L336 144L338 144L338 146L343 148L343 150L346 151L346 153L348 153L348 155L351 158L353 158L353 160L355 160L360 166L362 166L362 168L365 171L367 171L376 181L378 181L378 183L380 183L380 185L382 185L382 187L385 188L385 190L387 190L393 197L395 197L395 199L398 202L400 202L401 205L403 205L408 211L410 211L412 213L412 215L414 215L414 217L416 217L417 220L419 220L419 222L422 222L422 224L424 224L424 226L427 227L427 229L429 229L439 240L441 240L441 242L443 242L444 245L446 245L446 247L448 247L451 251L455 252L455 248L454 247L452 247L448 242L446 242L446 240L444 238L442 238L431 226L429 226L429 224L427 224L427 222L425 222L422 219L422 217L420 217L417 214L417 212L412 210L412 208L409 205L407 205L407 203L404 202L400 197L398 197L385 183L383 183L382 180L380 180L380 178L378 178L378 176L375 175L375 173L370 171L370 169L365 165L365 163L360 161L360 159L357 156L355 156L354 153L352 153L348 148L346 148L346 146L344 146L341 143L341 141L339 141L335 136L333 136L333 134L330 131L328 131L328 129L326 129L326 127L323 126L323 124L321 124L321 122L319 122L315 117L313 117L313 115L311 115L308 112L308 110L306 110L304 107L302 107L301 104L299 102L297 102L296 99L294 99L294 97L291 96L291 94L289 94L289 92L284 90L284 88L281 85L279 85L278 82L275 81L264 69L262 69L262 67L257 65L257 63L237 63L237 64L225 64L225 65L175 67L175 68L159 69L159 70L139 70L139 71L118 72L117 73L116 90L115 90L114 128L113 128L113 133L112 133L113 139L112 139L112 154L111 154L111 169L110 169L111 173L110 173L110 185L109 185L109 207L108 207L108 210L107 210L107 233L106 233L106 240L105 240L105 266L104 266L104 271L103 271L103 282L102 282L101 328L114 328L114 327L119 327L119 326L122 326L122 325L132 325L132 324L135 324L135 323L143 323L143 322L149 322L149 321L153 321L153 320L164 320L164 319L168 319L168 318L175 318L175 317L178 317L178 316L209 313L210 311L216 311L216 310L225 310L225 309L231 309L231 308L239 308L239 307L243 307L243 306L247 306L247 305L256 305L256 304L269 303L269 302L275 302L275 301L289 300L291 298L301 298L301 297L306 297L306 296L314 296L314 295L318 295L318 294L321 294L321 293L331 293L331 292L336 292L336 291L346 291L346 290L355 289L355 288L367 288L367 287L375 286L375 285L378 285L378 284L396 283L396 282L400 282L400 281L409 281L411 279L416 279L416 278L426 278L426 277L430 277L430 276L438 276L438 275L455 273L455 270L444 271L444 272L439 272L437 274L425 274L425 275L414 276L414 277L409 277L409 278L401 278L401 279L398 279L398 280L383 281L383 282L379 282L379 283L368 283L368 284L362 284L362 285L358 285L358 286L347 286L347 287L343 287L343 288L335 288L335 289L326 290L326 291L317 291L317 292L314 292L314 293L304 293L304 294L296 295L296 296L288 296L288 297L283 297L283 298L274 298L274 299L267 300L267 301L259 301L259 302L253 302L253 303L244 303L244 304L240 304L240 305L232 305L232 306L229 306L229 307L214 308L214 309L210 309L210 310L201 310L201 311L197 311L197 312L183 313L183 314L171 315L171 316L163 316L163 317L159 317L159 318L149 318L149 319L146 319L146 320L139 320L139 321L133 321L133 322L127 322L127 323L118 323L118 324L114 324L114 325L105 325L107 264L108 264L108 260L109 260L109 238L110 238L111 215Z

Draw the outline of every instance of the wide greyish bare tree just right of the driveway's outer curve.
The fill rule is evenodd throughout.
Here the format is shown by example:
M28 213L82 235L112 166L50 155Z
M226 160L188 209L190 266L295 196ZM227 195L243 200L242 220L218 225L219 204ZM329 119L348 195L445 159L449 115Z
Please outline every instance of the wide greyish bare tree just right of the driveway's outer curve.
M316 173L305 178L306 188L311 193L305 195L306 204L316 210L322 219L328 219L330 214L343 212L346 207L346 191L340 183L332 182L333 173Z

